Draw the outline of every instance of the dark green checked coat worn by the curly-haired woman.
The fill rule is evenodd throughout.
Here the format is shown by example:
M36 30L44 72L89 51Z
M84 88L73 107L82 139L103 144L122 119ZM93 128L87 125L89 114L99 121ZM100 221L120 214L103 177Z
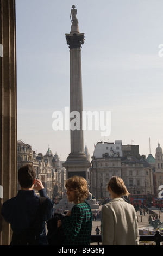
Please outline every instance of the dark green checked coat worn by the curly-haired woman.
M62 221L66 241L65 245L90 245L92 232L92 211L85 201L74 205L70 216Z

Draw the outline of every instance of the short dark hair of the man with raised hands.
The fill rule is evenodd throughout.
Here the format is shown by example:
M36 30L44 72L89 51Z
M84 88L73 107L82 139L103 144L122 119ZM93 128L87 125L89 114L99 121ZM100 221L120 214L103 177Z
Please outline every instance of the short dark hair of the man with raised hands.
M18 182L23 188L30 188L33 185L36 173L32 164L25 164L18 170Z

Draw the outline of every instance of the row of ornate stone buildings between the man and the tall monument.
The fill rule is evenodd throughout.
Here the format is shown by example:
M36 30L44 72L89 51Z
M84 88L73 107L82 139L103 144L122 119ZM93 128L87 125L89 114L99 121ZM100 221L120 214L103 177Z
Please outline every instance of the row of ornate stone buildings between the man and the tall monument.
M45 155L36 154L32 150L31 145L23 141L17 142L17 168L23 164L33 164L36 171L36 178L40 179L46 189L47 196L54 199L64 192L64 183L66 179L66 170L61 166L57 154L53 156L52 151L48 147Z

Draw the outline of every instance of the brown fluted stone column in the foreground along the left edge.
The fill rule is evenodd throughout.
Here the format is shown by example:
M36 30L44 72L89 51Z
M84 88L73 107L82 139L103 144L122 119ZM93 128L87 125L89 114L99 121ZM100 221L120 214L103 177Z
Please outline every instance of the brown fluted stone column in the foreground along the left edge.
M1 212L2 203L17 194L17 95L15 0L0 0L0 3ZM10 225L0 216L0 245L9 245L11 233Z

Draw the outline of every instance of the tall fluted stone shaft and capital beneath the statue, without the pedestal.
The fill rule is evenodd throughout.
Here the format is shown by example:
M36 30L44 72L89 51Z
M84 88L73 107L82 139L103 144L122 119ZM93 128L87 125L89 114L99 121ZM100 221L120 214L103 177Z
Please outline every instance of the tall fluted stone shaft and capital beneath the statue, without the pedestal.
M82 99L82 61L81 47L84 44L84 34L66 35L70 47L70 113L78 112L76 130L71 129L71 153L84 152L83 145L83 99ZM75 118L76 119L76 118ZM73 117L72 117L73 120ZM76 125L78 125L76 124Z

